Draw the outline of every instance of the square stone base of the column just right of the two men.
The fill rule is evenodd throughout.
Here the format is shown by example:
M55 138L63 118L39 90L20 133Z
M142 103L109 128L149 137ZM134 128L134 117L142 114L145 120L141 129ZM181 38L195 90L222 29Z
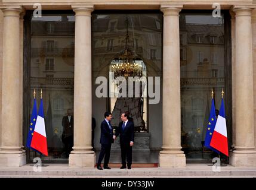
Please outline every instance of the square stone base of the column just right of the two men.
M186 167L185 154L159 153L159 167Z

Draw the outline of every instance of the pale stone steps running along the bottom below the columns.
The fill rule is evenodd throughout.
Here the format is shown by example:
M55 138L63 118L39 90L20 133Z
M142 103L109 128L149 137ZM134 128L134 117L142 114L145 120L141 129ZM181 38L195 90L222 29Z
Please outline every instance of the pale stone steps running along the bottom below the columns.
M42 172L34 172L33 164L22 167L0 167L1 178L256 178L256 167L221 167L212 171L208 164L187 164L184 168L112 167L111 170L69 167L68 164L46 164Z

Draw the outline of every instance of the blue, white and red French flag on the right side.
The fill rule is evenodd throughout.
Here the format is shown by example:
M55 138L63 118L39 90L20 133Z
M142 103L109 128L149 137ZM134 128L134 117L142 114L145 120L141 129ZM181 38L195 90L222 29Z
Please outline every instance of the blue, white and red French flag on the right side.
M221 100L220 113L212 134L210 146L229 156L229 148L227 143L227 125L225 118L224 101Z

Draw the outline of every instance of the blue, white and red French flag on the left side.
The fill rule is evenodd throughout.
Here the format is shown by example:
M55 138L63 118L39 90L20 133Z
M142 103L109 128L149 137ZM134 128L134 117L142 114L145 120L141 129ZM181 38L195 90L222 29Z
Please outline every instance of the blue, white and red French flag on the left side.
M44 121L44 107L43 107L42 99L39 106L38 117L36 119L35 130L33 132L33 138L30 146L35 150L38 150L45 156L48 156L47 137L45 132L45 121Z

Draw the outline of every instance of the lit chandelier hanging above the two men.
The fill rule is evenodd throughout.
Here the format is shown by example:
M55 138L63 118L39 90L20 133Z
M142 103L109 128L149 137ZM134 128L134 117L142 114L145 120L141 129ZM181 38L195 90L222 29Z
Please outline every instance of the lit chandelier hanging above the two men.
M114 78L117 77L142 77L143 68L141 59L135 58L135 51L128 47L128 17L126 19L127 34L125 37L125 49L119 54L118 58L112 60L110 71L114 73Z

